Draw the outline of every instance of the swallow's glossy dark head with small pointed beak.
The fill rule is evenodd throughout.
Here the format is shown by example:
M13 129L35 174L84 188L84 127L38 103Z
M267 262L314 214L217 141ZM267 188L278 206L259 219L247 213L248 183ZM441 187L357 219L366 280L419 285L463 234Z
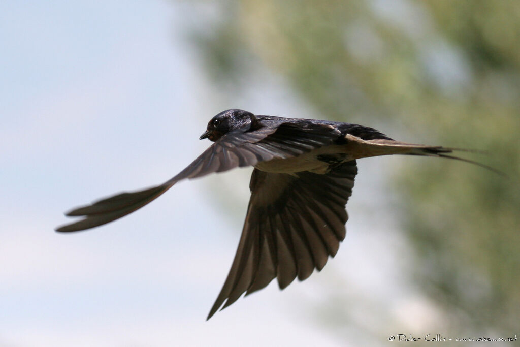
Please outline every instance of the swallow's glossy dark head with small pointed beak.
M251 112L236 108L225 110L215 115L207 123L207 129L200 136L200 139L209 138L214 142L233 130L243 129L248 131L256 122L257 120Z

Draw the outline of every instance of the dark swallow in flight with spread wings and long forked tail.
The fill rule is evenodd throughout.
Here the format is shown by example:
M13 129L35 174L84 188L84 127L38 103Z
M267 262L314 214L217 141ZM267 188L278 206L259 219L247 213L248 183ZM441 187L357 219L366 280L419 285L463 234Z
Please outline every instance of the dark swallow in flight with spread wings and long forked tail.
M357 159L394 154L441 157L496 171L449 154L460 149L403 143L367 126L239 109L215 115L200 137L204 138L213 144L173 178L69 211L67 216L82 219L56 231L76 232L119 219L185 178L253 166L237 253L207 319L275 278L283 289L296 277L304 280L325 266L345 238L345 205L352 195Z

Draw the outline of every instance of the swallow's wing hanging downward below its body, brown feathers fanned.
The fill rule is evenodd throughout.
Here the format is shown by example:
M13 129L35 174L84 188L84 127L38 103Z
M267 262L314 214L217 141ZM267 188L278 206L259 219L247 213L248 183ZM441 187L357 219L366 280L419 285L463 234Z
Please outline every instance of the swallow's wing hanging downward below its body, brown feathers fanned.
M273 174L255 169L251 200L229 275L207 319L262 289L275 277L280 289L320 271L345 238L345 205L352 195L356 161L328 174Z

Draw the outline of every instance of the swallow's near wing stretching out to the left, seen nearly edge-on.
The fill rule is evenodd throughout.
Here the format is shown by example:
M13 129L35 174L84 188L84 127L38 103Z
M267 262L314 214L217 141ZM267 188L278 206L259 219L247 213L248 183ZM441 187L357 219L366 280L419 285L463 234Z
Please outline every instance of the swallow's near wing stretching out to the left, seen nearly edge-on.
M275 158L298 156L332 143L339 135L340 132L330 125L308 124L301 127L283 122L269 122L250 132L230 132L167 182L144 190L123 192L69 211L67 216L83 219L63 225L56 231L75 232L109 223L146 205L181 179L227 171L237 166L255 165Z

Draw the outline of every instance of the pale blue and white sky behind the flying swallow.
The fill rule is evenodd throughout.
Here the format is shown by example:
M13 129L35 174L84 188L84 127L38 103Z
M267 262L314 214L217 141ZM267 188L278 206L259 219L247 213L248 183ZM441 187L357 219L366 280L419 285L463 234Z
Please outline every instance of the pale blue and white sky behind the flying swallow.
M0 3L0 345L343 346L363 338L359 326L432 324L435 307L395 281L396 262L406 262L395 254L405 246L391 215L372 217L390 199L372 159L359 165L371 174L356 178L335 259L209 322L238 244L251 169L178 183L88 232L54 232L70 208L184 169L209 146L198 139L207 121L226 108L312 116L269 74L255 94L228 105L187 38L186 25L198 23L189 9L166 1ZM353 309L331 324L338 290L352 299L339 304ZM363 315L361 296L393 315Z

